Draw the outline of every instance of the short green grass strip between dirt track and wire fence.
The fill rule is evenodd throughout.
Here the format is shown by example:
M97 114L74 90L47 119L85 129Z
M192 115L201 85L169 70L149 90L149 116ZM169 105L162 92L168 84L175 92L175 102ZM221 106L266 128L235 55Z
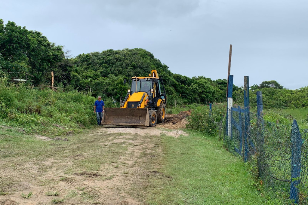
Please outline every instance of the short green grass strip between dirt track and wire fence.
M265 204L247 166L217 139L191 133L162 145L162 177L151 179L148 204Z

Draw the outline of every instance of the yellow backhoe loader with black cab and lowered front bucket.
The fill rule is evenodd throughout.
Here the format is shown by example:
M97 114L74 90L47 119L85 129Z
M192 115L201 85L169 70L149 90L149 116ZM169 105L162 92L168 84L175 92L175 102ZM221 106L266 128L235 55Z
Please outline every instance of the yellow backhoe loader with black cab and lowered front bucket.
M106 108L102 125L143 125L155 127L166 117L167 96L162 78L152 70L148 77L132 77L121 108Z

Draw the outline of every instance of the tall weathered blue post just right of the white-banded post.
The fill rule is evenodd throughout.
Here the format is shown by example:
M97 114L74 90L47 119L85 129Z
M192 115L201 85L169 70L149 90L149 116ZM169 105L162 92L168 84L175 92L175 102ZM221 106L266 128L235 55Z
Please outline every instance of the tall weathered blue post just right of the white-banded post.
M247 162L248 160L248 129L250 125L250 118L249 118L249 77L244 76L244 110L245 110L245 136L244 136L244 161Z

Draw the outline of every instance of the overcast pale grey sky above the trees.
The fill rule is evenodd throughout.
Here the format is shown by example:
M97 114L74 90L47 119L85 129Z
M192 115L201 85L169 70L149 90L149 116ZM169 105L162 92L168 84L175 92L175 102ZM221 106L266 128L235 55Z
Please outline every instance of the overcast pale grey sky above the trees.
M143 48L173 73L308 86L307 0L0 0L0 18L71 50Z

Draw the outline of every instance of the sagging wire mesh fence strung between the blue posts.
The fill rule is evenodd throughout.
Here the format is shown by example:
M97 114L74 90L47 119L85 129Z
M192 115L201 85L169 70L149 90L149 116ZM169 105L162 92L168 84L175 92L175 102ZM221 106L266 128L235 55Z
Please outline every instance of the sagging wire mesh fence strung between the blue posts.
M231 116L229 126L228 120L222 126L224 146L256 167L256 180L266 197L308 204L308 130L294 123L264 122L255 113L245 118L232 111Z

